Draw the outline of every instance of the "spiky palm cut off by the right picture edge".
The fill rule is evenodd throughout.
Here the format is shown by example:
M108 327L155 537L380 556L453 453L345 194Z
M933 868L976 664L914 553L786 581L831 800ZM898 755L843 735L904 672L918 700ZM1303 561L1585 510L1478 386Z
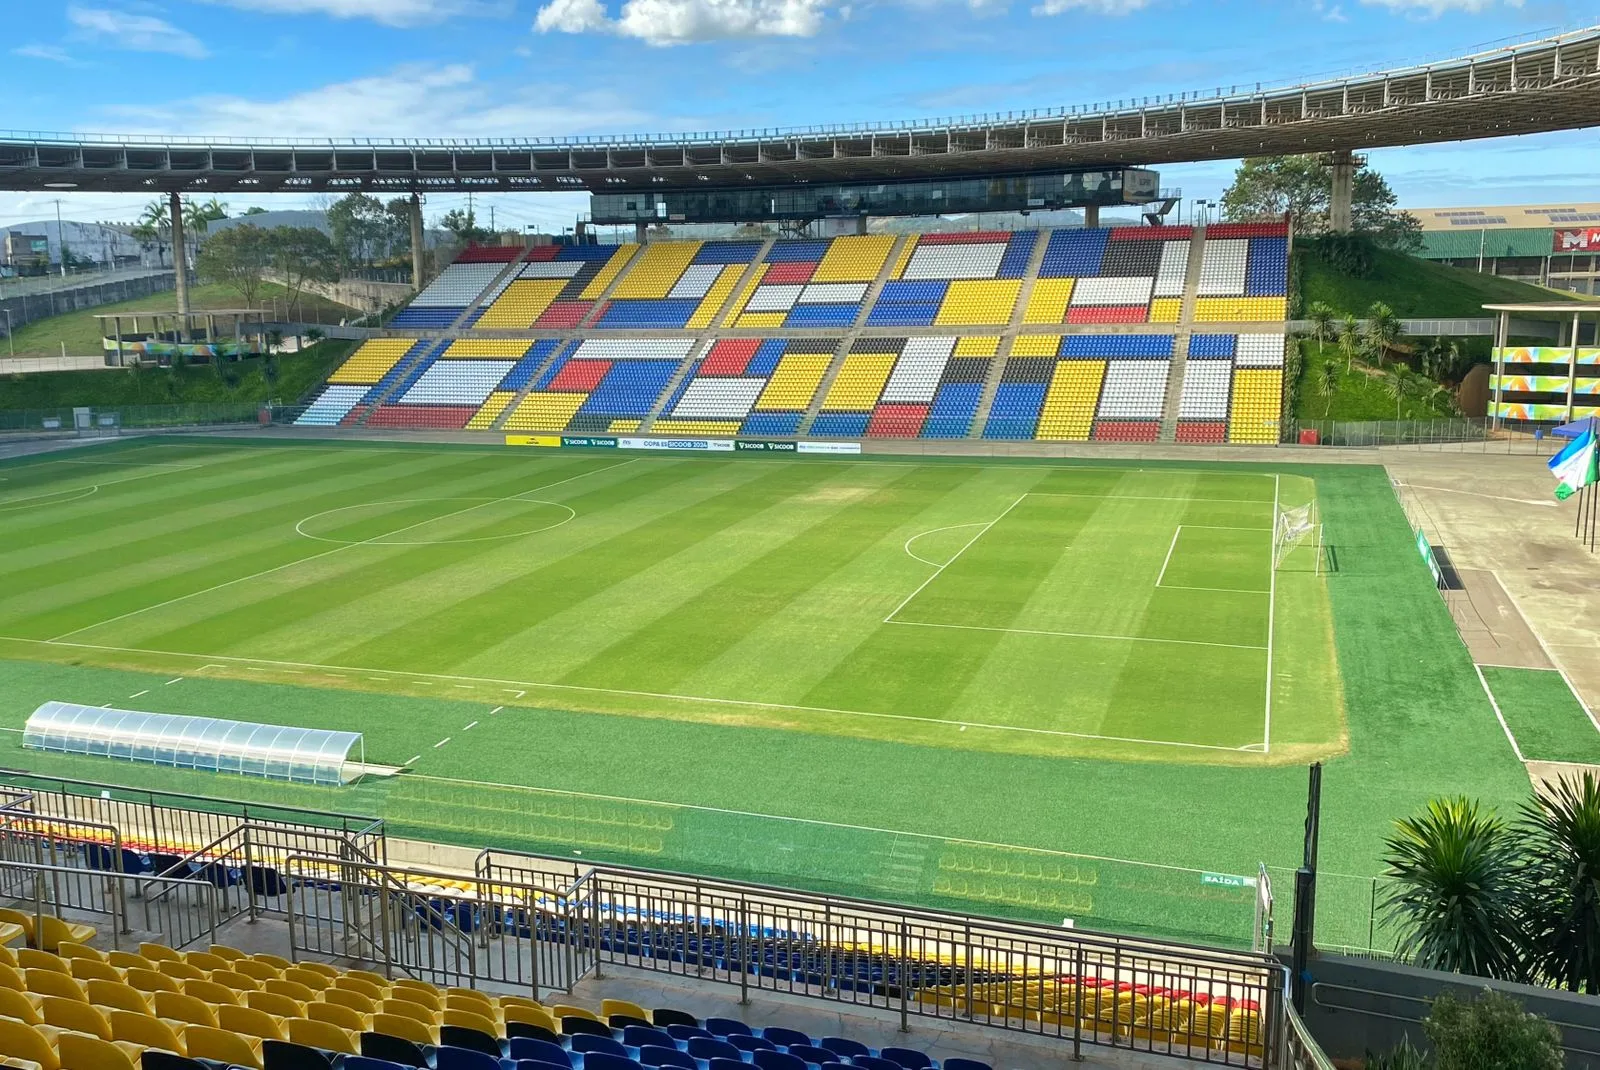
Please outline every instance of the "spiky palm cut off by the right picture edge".
M1523 804L1517 833L1530 971L1600 995L1600 781L1586 771L1547 785Z

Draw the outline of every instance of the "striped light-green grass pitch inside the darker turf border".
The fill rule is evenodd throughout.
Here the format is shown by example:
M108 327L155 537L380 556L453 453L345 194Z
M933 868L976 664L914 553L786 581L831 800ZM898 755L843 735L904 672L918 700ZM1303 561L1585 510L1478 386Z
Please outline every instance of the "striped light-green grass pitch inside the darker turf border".
M366 669L387 675L374 689L501 683L525 705L1019 753L1342 745L1326 592L1309 560L1272 590L1274 502L1310 497L1298 477L326 445L94 457L112 464L0 465L0 637L40 657ZM1286 747L1262 755L1269 646ZM483 779L515 771L485 755Z

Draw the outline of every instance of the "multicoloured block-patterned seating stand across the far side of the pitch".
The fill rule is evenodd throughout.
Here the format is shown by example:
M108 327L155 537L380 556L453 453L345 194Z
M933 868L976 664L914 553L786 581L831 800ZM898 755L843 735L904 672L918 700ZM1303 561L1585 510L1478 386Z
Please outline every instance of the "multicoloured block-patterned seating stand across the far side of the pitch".
M1286 293L1283 224L467 250L296 422L1274 443Z

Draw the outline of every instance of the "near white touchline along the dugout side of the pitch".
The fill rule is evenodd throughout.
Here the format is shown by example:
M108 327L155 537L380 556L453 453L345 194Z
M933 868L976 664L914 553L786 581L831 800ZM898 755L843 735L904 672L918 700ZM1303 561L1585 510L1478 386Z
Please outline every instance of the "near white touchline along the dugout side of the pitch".
M906 621L896 621L896 624L907 624L907 622ZM933 627L944 627L944 625L933 625ZM1086 637L1086 638L1128 638L1128 637ZM14 635L0 635L0 641L37 643L40 646L66 646L66 648L72 648L72 649L110 651L110 653L117 653L117 654L157 654L157 656L162 656L162 657L192 657L192 659L197 659L197 661L198 659L214 659L218 662L232 662L232 664L245 665L246 669L256 667L256 665L269 665L269 667L285 667L286 665L286 667L291 667L291 669L310 669L310 670L317 670L317 672L325 672L328 669L339 669L339 670L344 670L344 672L362 672L360 669L354 669L350 665L323 665L323 664L318 664L318 662L275 661L275 659L269 659L269 657L232 657L229 654L192 654L192 653L184 653L184 651L157 651L157 649L149 649L149 648L142 648L142 646L106 646L106 645L99 645L99 643L64 643L64 641L59 641L59 640L29 640L29 638L19 638L19 637L14 637ZM1181 640L1149 640L1149 641L1154 641L1154 643L1178 643ZM1205 643L1205 646L1216 646L1216 643ZM1253 646L1253 648L1246 648L1246 649L1261 649L1261 648L1254 648ZM480 683L480 685L514 685L512 688L501 686L499 689L510 693L510 691L515 691L517 688L522 688L523 694L526 691L534 691L534 689L546 689L546 691L579 691L579 693L584 693L584 694L621 694L621 696L627 696L627 697L634 697L634 699L667 699L667 701L674 701L674 702L704 702L707 705L733 705L733 707L749 707L749 709L758 709L758 710L795 710L795 712L800 712L800 713L837 713L840 717L862 717L862 718L883 720L883 721L910 721L914 725L944 725L944 726L960 728L962 731L965 731L968 728L978 728L978 729L995 731L995 733L1021 733L1021 734L1026 734L1026 736L1062 736L1062 737L1069 737L1069 739L1104 739L1104 741L1123 742L1123 744L1149 744L1149 745L1154 745L1154 747L1190 747L1190 749L1197 749L1197 750L1224 750L1224 752L1230 752L1230 753L1242 750L1240 747L1219 747L1219 745L1214 745L1214 744L1187 744L1187 742L1176 742L1176 741L1171 741L1171 739L1136 739L1136 737L1130 737L1130 736L1098 736L1098 734L1093 734L1093 733L1069 733L1069 731L1061 731L1061 729L1054 729L1054 728L1024 728L1024 726L1019 726L1019 725L987 725L987 723L982 723L982 721L955 721L955 720L947 720L947 718L939 718L939 717L912 717L909 713L872 713L872 712L867 712L867 710L840 710L840 709L827 707L827 705L794 705L794 704L789 704L789 702L757 702L754 699L714 699L710 696L702 696L702 694L672 694L672 693L664 693L664 691L629 691L629 689L622 689L622 688L590 688L590 686L576 685L576 683L541 683L538 680L502 680L502 678L496 678L496 677L461 677L461 675L453 675L453 673L411 672L411 670L405 670L405 669L389 669L389 670L384 670L384 672L387 672L390 677L403 677L406 680L414 680L418 683L426 683L426 685L434 685L434 683L440 683L440 681L454 683L458 680L466 680L466 681Z

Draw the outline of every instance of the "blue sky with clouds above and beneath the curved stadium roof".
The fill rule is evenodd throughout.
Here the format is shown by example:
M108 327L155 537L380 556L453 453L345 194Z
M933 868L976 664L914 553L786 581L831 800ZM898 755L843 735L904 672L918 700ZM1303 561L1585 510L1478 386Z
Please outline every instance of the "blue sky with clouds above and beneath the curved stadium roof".
M725 130L1288 83L1576 29L1563 0L0 0L0 123L235 136ZM1371 154L1414 206L1600 200L1595 131ZM1232 165L1162 168L1214 197ZM78 195L80 219L139 197ZM306 197L229 198L267 208ZM456 206L429 198L429 216ZM483 203L483 198L480 198ZM570 224L582 195L499 195ZM54 213L0 194L0 226Z

